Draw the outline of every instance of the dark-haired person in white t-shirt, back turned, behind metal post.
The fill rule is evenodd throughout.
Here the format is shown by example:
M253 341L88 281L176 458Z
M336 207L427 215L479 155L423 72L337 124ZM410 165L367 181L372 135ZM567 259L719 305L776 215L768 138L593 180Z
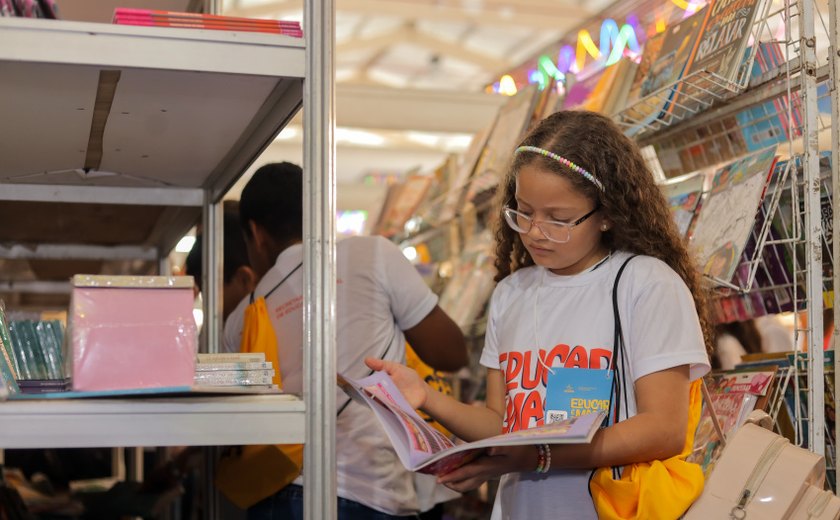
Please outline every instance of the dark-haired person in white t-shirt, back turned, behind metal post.
M248 257L260 278L278 342L283 389L303 391L303 172L292 163L259 168L242 190L239 214ZM349 237L336 245L337 369L352 378L370 371L366 357L405 362L406 340L430 366L455 371L467 350L458 326L437 305L400 249L382 237ZM245 298L225 323L224 350L240 350ZM336 467L340 519L390 519L419 513L413 476L377 419L336 389ZM250 519L303 518L302 478L248 510Z

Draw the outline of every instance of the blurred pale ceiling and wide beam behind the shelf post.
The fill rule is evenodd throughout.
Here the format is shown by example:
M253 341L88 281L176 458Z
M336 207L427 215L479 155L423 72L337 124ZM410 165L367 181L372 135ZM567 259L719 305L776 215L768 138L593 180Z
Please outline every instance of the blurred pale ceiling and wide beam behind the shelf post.
M416 166L431 171L447 152L462 152L501 103L485 94L487 85L612 1L336 0L337 124L351 137L365 131L361 141L378 136L381 143L339 139L339 183ZM303 18L303 0L223 0L221 6L229 16ZM297 135L287 133L257 165L300 156L294 153L300 132L293 128Z

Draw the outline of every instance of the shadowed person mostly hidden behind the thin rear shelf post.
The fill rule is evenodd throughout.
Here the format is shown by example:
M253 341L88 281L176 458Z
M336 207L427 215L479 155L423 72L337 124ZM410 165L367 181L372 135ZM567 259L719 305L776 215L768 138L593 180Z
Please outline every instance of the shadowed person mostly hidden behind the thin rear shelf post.
M222 234L222 319L233 312L242 298L251 294L257 286L257 274L248 263L248 250L239 225L239 205L225 201L223 210ZM195 244L187 254L184 264L186 274L195 280L196 293L201 292L201 235L197 235ZM197 294L196 294L197 295Z

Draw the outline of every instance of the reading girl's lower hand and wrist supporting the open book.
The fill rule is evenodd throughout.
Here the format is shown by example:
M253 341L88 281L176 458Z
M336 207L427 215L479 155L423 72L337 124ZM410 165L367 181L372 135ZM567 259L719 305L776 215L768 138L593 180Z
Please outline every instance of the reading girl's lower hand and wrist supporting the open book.
M533 471L537 467L536 446L500 446L487 455L438 478L446 487L464 493L505 473Z

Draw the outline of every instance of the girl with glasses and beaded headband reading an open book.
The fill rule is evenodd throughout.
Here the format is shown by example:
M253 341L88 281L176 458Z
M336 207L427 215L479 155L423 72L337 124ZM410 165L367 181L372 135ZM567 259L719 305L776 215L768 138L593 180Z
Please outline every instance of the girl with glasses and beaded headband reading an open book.
M540 122L500 189L486 406L443 396L396 363L366 362L468 441L574 417L570 389L611 399L617 417L591 444L493 448L440 477L458 491L501 477L493 518L597 518L594 468L677 457L693 436L691 382L709 370L712 337L700 275L638 147L604 116Z

